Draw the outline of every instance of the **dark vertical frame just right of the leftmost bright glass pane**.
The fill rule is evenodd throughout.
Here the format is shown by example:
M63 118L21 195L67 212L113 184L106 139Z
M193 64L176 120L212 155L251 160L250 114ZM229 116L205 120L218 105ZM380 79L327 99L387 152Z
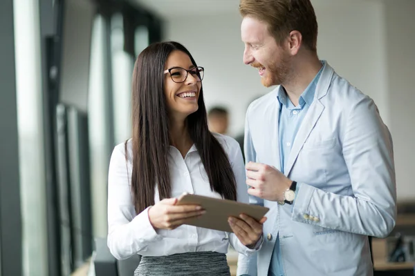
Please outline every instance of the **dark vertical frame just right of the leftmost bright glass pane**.
M55 170L55 133L59 79L59 36L62 32L62 1L39 0L40 33L42 50L42 94L44 118L44 157L46 173L46 218L48 239L48 275L61 271L59 207L57 199L57 176Z

